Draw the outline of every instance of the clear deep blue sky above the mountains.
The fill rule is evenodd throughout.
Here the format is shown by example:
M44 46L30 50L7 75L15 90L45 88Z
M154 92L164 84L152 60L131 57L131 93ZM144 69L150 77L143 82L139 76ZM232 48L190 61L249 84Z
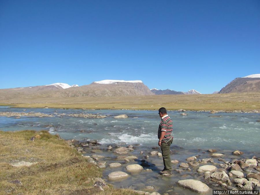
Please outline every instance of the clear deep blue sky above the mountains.
M0 88L104 79L201 93L260 73L259 0L0 1Z

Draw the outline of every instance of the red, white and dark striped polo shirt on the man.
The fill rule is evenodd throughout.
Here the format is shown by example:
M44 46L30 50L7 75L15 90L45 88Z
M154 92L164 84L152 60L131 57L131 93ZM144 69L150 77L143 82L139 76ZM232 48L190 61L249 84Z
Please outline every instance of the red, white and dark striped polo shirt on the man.
M161 118L161 122L158 128L158 139L161 137L161 131L166 131L164 138L162 139L162 142L167 143L169 142L173 136L172 136L172 119L167 115L163 116Z

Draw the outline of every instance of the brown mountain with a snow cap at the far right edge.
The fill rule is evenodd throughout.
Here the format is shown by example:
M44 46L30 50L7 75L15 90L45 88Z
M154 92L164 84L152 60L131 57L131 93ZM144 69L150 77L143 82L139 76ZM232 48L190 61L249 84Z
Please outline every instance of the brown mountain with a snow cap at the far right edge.
M219 93L242 93L242 92L259 92L260 91L260 74L248 75L246 77L235 78Z

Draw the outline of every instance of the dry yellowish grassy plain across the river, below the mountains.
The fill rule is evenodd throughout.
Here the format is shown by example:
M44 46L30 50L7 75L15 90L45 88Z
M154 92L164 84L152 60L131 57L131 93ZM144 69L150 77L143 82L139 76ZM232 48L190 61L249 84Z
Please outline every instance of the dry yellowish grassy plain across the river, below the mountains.
M260 110L260 92L237 94L153 95L119 97L19 98L0 100L0 105L73 109L159 109L169 110Z

